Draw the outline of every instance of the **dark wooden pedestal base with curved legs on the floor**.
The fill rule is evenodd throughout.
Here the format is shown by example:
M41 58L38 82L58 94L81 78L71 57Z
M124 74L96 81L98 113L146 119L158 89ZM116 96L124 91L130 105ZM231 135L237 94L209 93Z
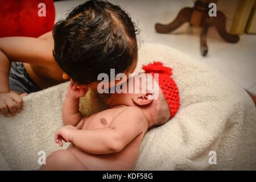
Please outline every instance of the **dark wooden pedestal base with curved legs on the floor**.
M181 9L175 20L169 24L155 24L155 30L158 33L166 34L179 28L181 24L189 22L191 26L199 26L202 28L200 34L200 50L201 55L206 56L208 53L207 33L211 26L214 26L220 34L221 38L230 43L237 43L238 35L229 34L226 31L226 16L217 11L216 17L208 15L208 5L210 2L217 3L217 0L197 0L194 7L185 7Z

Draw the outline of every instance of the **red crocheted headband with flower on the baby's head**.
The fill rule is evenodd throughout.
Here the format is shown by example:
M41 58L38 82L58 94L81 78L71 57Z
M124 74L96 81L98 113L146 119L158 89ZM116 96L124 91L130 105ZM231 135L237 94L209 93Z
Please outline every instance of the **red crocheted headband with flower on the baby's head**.
M179 89L175 81L171 78L172 68L164 67L161 62L153 62L152 64L143 65L145 73L159 74L158 85L163 92L164 98L170 109L171 118L177 113L180 106Z

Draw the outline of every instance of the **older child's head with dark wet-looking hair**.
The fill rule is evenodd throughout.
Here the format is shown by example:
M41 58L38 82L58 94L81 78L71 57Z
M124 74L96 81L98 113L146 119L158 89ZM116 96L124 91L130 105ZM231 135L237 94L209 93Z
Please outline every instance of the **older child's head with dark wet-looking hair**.
M53 28L53 55L68 76L81 84L100 73L131 73L137 64L137 30L130 16L108 1L87 1Z

